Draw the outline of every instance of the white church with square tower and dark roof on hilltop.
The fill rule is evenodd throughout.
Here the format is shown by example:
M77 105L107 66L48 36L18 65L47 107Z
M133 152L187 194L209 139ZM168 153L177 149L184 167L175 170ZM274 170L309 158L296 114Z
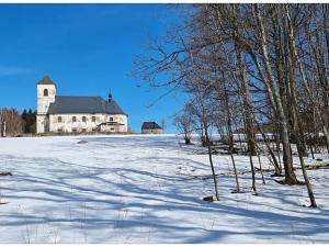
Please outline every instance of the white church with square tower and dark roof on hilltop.
M113 100L101 97L56 96L57 86L45 76L36 83L36 133L126 133L128 115Z

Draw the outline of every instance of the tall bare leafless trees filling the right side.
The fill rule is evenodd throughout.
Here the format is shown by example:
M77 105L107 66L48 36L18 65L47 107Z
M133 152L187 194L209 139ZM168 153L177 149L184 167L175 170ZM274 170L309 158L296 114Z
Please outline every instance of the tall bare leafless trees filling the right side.
M216 128L232 151L234 133L242 128L251 157L260 150L256 134L266 141L262 126L270 124L276 153L265 144L275 176L284 176L285 184L300 183L293 168L296 148L316 206L304 156L308 148L316 150L320 138L329 148L329 7L180 8L183 21L137 58L135 72L152 87L189 93L190 101L175 119L186 143L198 130L209 146L209 131ZM252 158L250 162L253 175Z

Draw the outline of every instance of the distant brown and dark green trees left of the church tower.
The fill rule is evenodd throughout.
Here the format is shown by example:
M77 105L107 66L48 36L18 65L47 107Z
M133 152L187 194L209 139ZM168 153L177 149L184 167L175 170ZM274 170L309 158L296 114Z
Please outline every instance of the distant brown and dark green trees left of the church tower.
M35 133L35 117L36 112L31 109L22 114L15 109L0 109L0 137Z

